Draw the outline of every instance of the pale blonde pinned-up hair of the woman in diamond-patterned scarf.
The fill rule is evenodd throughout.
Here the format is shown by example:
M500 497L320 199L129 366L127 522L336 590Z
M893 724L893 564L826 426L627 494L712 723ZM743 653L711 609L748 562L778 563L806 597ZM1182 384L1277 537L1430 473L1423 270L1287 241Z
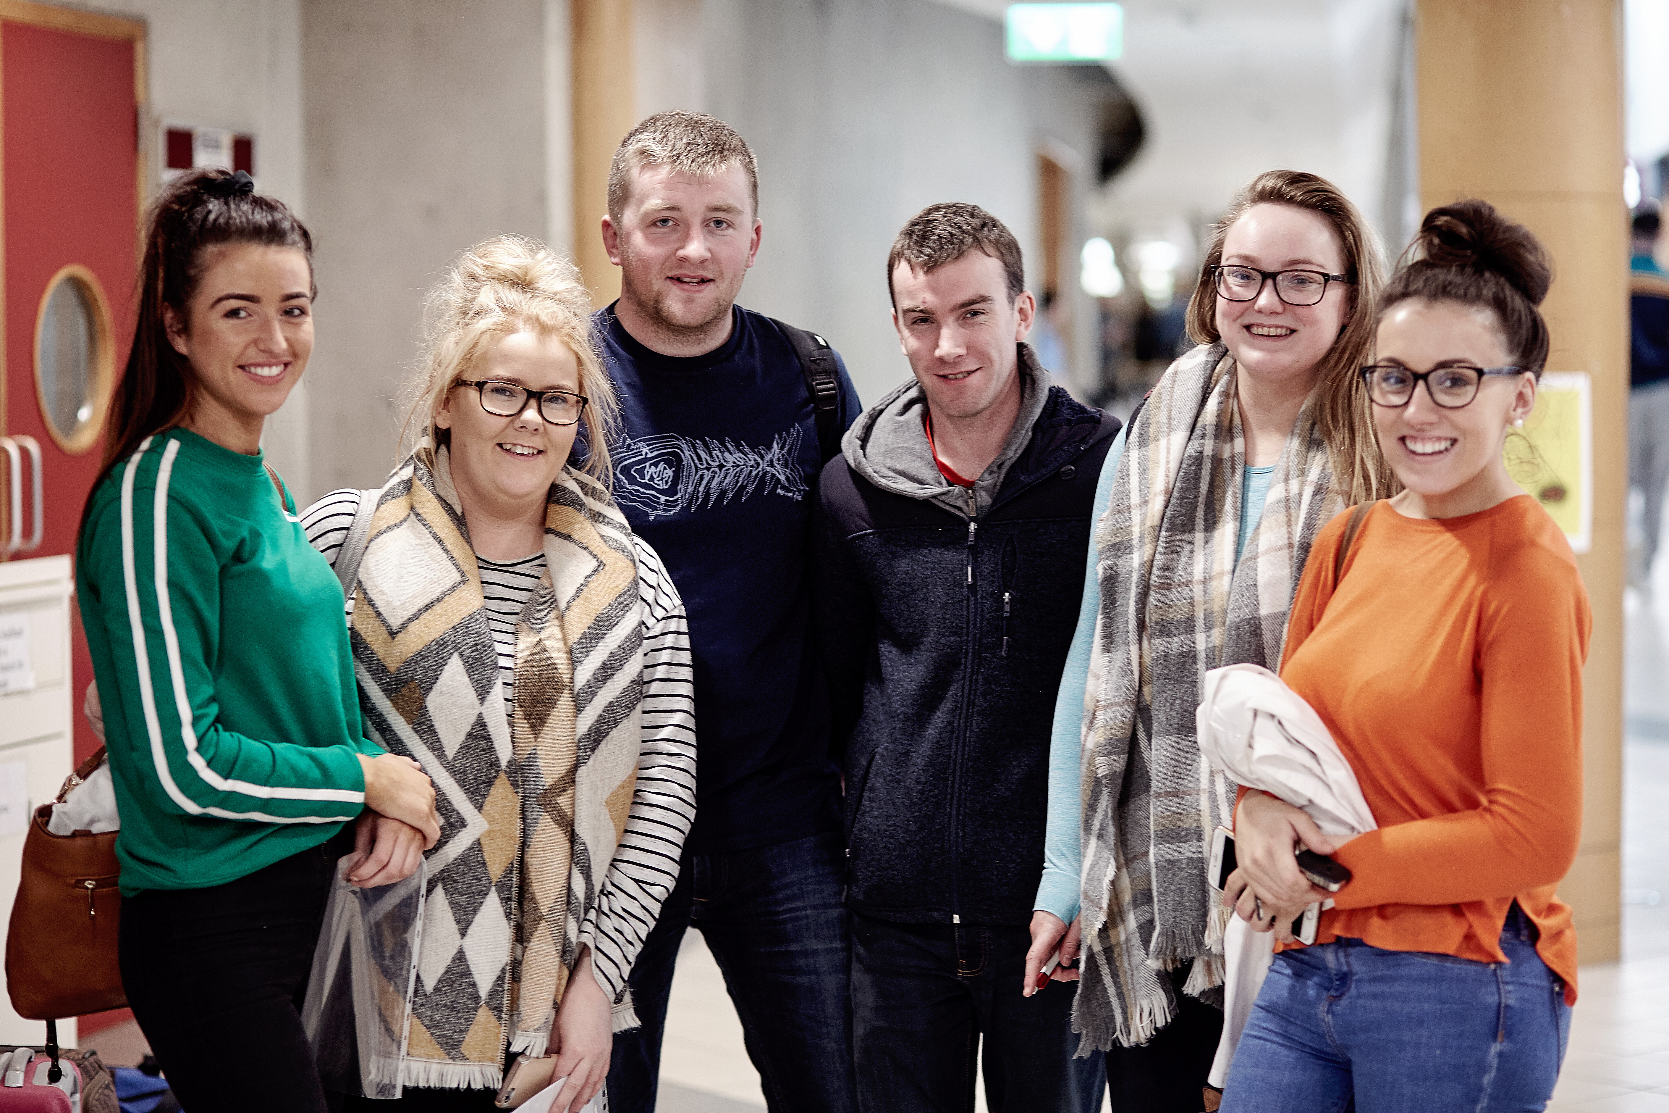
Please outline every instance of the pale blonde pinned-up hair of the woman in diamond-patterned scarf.
M406 389L402 454L426 437L431 449L419 451L446 444L447 431L434 426L446 392L459 379L472 377L481 357L499 340L531 332L561 342L579 362L579 392L587 399L581 417L586 459L579 471L609 484L609 441L619 424L619 400L603 370L591 334L591 294L574 264L539 240L494 235L459 254L429 290L424 309L422 352Z

